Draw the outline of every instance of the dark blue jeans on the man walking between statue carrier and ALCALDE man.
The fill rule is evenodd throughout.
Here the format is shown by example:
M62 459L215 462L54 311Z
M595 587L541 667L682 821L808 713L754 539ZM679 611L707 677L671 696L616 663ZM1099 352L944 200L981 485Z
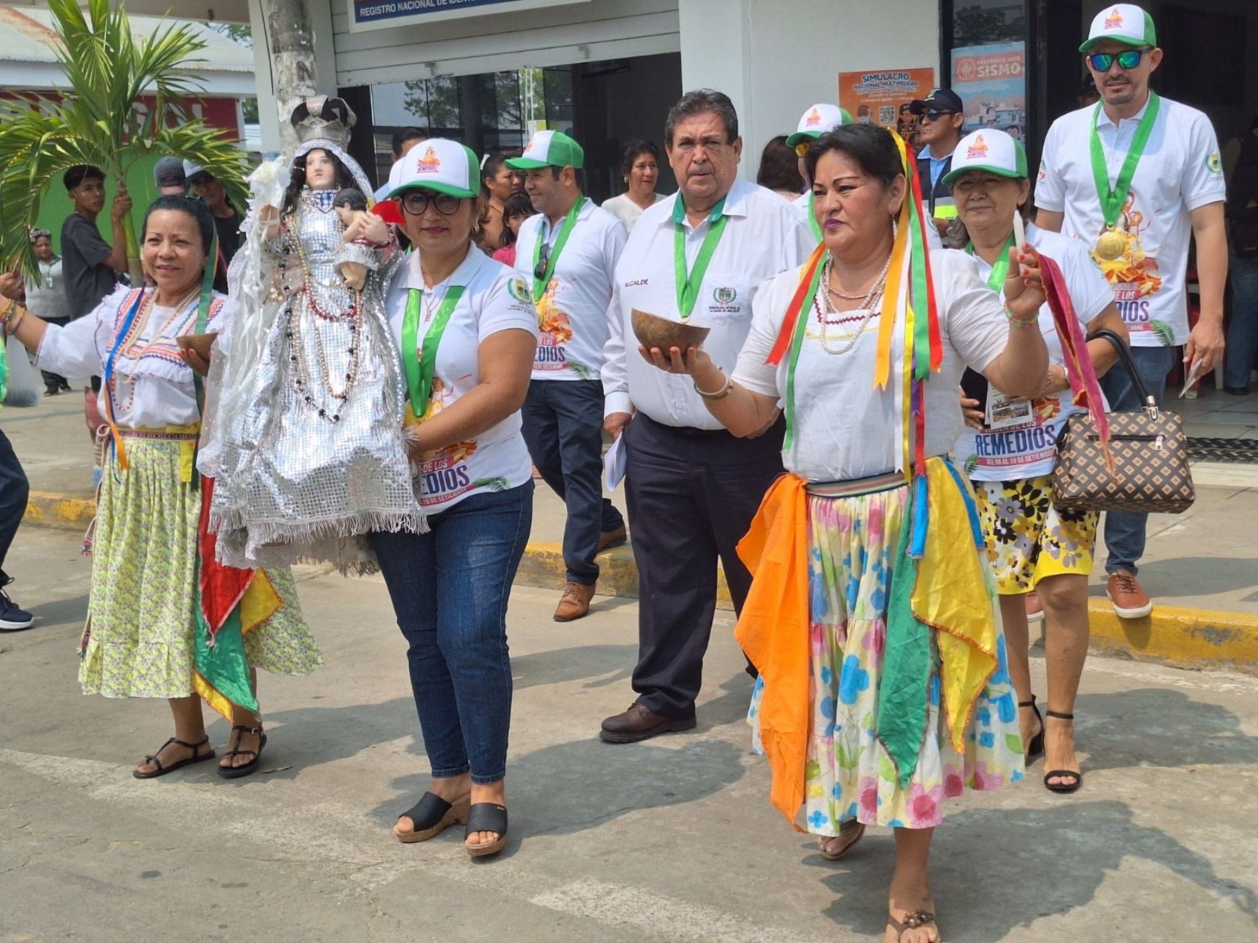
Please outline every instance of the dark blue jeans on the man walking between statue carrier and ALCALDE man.
M520 411L525 443L542 480L564 499L564 566L567 581L599 578L599 534L624 518L603 497L603 383L598 380L533 380Z

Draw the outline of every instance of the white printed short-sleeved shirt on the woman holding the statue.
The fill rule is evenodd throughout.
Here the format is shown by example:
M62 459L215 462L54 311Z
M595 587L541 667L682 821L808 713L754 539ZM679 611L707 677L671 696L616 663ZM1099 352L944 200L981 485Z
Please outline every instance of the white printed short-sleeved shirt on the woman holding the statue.
M398 267L385 299L389 327L399 348L410 289L424 292L416 336L416 346L423 347L424 334L452 285L463 285L463 295L450 313L437 348L433 390L425 416L447 409L481 382L479 352L487 337L512 328L537 336L537 313L528 285L516 272L472 248L454 273L429 290L424 287L416 250ZM409 421L413 421L411 416L408 409ZM426 454L419 463L413 460L411 474L420 507L433 514L469 494L517 488L532 478L532 463L520 426L517 411L476 439L445 445Z

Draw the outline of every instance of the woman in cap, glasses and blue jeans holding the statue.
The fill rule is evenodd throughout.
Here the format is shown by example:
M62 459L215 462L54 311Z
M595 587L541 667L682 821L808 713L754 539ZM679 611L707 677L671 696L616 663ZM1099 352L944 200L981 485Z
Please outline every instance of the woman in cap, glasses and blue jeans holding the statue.
M430 138L399 162L390 199L415 251L385 302L406 380L406 440L428 533L372 546L410 644L410 683L431 785L399 841L465 824L473 858L507 841L511 724L507 596L533 513L520 433L537 346L530 287L478 251L477 160Z

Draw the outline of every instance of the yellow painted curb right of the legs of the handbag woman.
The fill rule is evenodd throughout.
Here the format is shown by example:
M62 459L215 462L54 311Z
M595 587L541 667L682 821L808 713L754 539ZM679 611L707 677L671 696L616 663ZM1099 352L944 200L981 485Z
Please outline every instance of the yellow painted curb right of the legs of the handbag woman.
M1144 619L1118 619L1107 600L1089 600L1088 621L1088 648L1101 655L1258 674L1258 619L1242 612L1157 605Z

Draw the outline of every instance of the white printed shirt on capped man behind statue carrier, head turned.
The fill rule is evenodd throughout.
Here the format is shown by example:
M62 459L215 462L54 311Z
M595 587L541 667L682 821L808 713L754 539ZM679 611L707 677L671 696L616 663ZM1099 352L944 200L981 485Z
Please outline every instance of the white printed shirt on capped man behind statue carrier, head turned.
M598 380L608 342L608 306L620 250L629 238L624 224L593 200L576 214L555 273L537 302L537 357L533 380ZM551 244L562 229L545 214L530 216L516 239L516 270L533 284L533 251L538 240Z

